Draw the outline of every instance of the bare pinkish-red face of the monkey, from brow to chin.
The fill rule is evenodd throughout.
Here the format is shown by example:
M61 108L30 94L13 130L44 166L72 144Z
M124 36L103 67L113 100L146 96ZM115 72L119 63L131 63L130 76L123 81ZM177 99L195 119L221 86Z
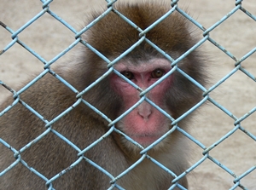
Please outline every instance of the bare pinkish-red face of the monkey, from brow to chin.
M166 72L169 72L172 67L167 60L154 59L149 60L147 63L140 62L137 65L120 62L114 68L133 83L136 83L141 89L147 89L164 76ZM124 79L113 74L111 83L113 83L113 89L122 97L124 102L120 114L140 100L140 91L125 82ZM157 106L166 110L164 105L165 92L166 89L170 88L171 83L172 75L156 85L154 89L151 89L146 96ZM118 128L143 147L148 147L148 145L170 130L170 123L171 121L156 108L148 104L147 101L143 101L140 106L119 121Z

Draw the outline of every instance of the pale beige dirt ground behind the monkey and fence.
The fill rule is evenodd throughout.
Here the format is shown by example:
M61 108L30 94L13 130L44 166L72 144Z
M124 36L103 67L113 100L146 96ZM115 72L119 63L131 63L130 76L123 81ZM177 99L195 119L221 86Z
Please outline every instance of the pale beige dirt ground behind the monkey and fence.
M90 9L96 9L98 5L106 6L107 3L103 0L55 0L50 4L50 9L76 30L79 30L80 26L83 25L83 18L86 13ZM202 26L209 28L235 8L235 1L180 0L178 5L189 10L189 14ZM242 6L254 16L256 15L254 0L244 0ZM13 31L16 31L41 10L42 3L39 0L1 0L0 20ZM256 21L238 10L236 14L216 27L210 36L239 60L256 47ZM49 14L44 14L31 26L28 26L26 30L20 33L19 39L48 61L74 41L73 32L70 32ZM11 41L9 32L0 27L0 49L4 49ZM235 61L212 43L207 42L204 47L212 60L209 61L212 75L210 88L235 68ZM70 59L71 55L72 52L64 55L57 62ZM256 77L255 63L256 54L244 60L241 66ZM0 81L14 89L26 78L29 78L32 73L42 71L44 71L44 64L18 43L0 56ZM0 86L0 101L3 101L6 95L9 95L9 91ZM256 83L243 72L238 71L224 83L221 83L217 89L214 89L210 96L236 118L241 118L256 107ZM201 116L197 117L192 124L190 133L206 147L212 146L235 127L234 119L218 107L213 106L212 103L202 107L200 114ZM241 126L255 137L255 112L243 120ZM193 142L191 143L193 144ZM195 158L192 159L191 164L195 164L203 158L201 147L195 146L194 154ZM236 176L241 176L256 165L256 141L253 141L241 130L237 130L217 147L214 147L210 155L233 171ZM210 159L205 160L195 168L188 174L188 177L189 189L193 190L224 190L230 189L234 185L234 177ZM256 190L256 170L242 178L241 184L247 189ZM236 187L236 189L241 188Z

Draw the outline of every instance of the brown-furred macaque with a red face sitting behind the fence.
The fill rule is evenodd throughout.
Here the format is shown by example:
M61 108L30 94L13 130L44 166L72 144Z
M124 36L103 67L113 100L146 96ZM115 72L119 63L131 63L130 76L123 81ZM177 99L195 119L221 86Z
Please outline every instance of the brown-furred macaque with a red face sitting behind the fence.
M166 14L170 9L170 4L154 1L120 3L113 7L144 30ZM94 11L87 19L88 23L99 15L101 13ZM90 30L84 32L82 38L109 60L114 60L143 37L139 33L136 27L125 22L112 11ZM177 12L154 26L145 34L145 37L174 60L197 43L195 29L189 24L189 20ZM79 51L75 60L67 62L67 66L58 67L54 71L81 92L112 67L82 44ZM198 83L205 84L203 57L201 51L195 49L179 61L177 66ZM140 94L144 89L167 76L166 74L172 70L171 64L171 60L167 60L166 56L144 40L129 54L113 64L113 68L124 75L127 80L120 78L117 72L111 72L100 83L96 83L93 88L84 93L83 100L113 121L142 98ZM132 86L128 80L139 88ZM189 79L174 71L149 90L145 96L147 100L153 101L157 107L175 119L201 101L202 92ZM177 183L188 188L186 176L172 184L174 176L170 174L171 172L160 168L147 157L129 170L125 176L119 177L116 181L111 177L111 175L119 176L127 170L139 158L142 158L140 152L143 147L148 147L173 128L172 119L167 118L148 101L143 101L114 124L115 129L122 131L142 147L136 146L124 135L113 130L95 147L85 152L84 158L78 164L74 164L81 158L79 149L84 150L85 147L106 134L110 127L113 127L113 125L108 126L109 122L91 110L83 101L73 107L78 99L79 97L73 90L48 73L20 95L21 101L26 102L44 118L38 118L20 103L3 114L0 118L0 138L8 142L15 150L20 151L21 147L35 140L45 130L51 129L51 131L39 141L33 141L32 146L21 151L18 156L15 155L15 158L20 156L27 165L20 162L1 176L0 189L25 190L53 187L68 190L102 190L116 185L114 189L123 187L128 190L163 190ZM0 110L3 111L12 102L14 98L9 97L3 102ZM63 117L55 119L49 127L45 126L67 108L72 108L72 110ZM188 130L189 118L191 118L190 115L182 119L178 126L183 130ZM73 142L77 148L63 141L56 135L57 133ZM1 143L0 148L0 171L3 171L15 162L15 158L14 153ZM163 164L176 176L189 169L189 143L187 138L177 130L149 149L147 155ZM107 176L91 165L87 158L107 170L110 175ZM44 177L39 177L26 167L37 170ZM58 174L60 175L58 178L51 183L46 183Z

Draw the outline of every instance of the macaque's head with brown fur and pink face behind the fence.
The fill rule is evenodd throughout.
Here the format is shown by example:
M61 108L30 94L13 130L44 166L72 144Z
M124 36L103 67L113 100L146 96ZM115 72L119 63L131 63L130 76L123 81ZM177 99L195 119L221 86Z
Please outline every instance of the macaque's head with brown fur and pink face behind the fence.
M155 6L158 8L155 9ZM166 14L170 5L168 8L168 5L164 3L162 6L159 3L145 3L143 6L122 4L116 6L115 9L144 30ZM90 21L99 15L93 14ZM97 22L89 31L84 32L84 41L109 60L114 60L123 54L142 37L140 37L137 28L113 12ZM165 20L162 20L147 32L145 37L174 60L197 42L193 36L189 20L178 13L172 13ZM191 78L204 84L202 57L201 53L195 50L181 60L177 66ZM82 72L85 73L85 80L82 89L108 71L108 64L89 49L86 49L84 53L84 60L86 61ZM165 77L166 73L172 70L171 64L170 60L167 60L164 55L144 40L128 55L114 64L113 68L144 90L160 78ZM108 78L102 80L101 83L91 89L91 93L89 92L84 97L85 99L89 97L91 104L109 118L115 119L143 97L140 96L142 93L140 89L136 89L112 72ZM157 107L170 114L172 118L178 118L201 100L201 94L201 90L195 84L176 71L149 90L145 96L148 100L153 101ZM172 120L166 118L156 107L149 104L148 101L143 101L122 118L116 127L143 147L148 147L172 129L171 123ZM173 137L170 135L168 138Z

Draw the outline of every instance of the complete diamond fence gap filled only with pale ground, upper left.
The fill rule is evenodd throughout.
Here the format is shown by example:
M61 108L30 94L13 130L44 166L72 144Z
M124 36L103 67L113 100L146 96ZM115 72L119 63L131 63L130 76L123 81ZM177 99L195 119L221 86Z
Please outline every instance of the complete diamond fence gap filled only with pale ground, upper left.
M55 26L58 25L60 27L56 31ZM47 61L52 60L75 41L74 33L48 13L38 18L18 36L23 43Z

